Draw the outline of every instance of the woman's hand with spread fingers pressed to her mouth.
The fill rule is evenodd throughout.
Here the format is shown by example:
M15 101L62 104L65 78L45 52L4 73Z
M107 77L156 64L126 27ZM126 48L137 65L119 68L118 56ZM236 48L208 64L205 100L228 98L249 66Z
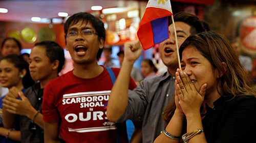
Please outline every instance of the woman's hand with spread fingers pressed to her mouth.
M198 92L188 75L180 71L180 69L177 69L176 80L178 82L176 84L176 91L179 104L184 114L187 116L189 113L199 113L200 107L204 101L207 84L204 83Z

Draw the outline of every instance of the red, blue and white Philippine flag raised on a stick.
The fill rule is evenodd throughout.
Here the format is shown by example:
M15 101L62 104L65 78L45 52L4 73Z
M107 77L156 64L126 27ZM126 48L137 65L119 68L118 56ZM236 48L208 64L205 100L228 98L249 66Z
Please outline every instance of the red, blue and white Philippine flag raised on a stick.
M149 0L137 32L144 50L168 38L168 16L173 15L170 0Z

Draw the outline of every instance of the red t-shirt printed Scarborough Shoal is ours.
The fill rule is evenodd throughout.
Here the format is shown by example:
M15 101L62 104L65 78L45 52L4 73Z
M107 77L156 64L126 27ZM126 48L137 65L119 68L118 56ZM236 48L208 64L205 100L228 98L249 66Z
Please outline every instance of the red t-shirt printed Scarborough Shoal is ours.
M119 70L112 68L117 77ZM116 142L117 127L106 118L106 103L113 87L108 71L83 79L72 71L51 80L45 90L42 113L45 122L60 120L66 142ZM131 79L129 89L136 87ZM125 130L125 129L124 129ZM126 142L120 136L120 142Z

